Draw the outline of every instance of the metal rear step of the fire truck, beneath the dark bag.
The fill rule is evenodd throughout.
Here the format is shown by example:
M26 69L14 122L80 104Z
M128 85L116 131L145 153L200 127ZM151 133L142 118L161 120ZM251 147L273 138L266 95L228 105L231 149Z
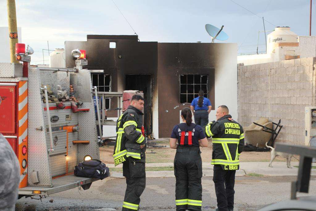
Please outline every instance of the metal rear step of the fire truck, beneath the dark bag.
M27 186L25 188L19 188L19 195L50 195L58 193L64 190L72 189L92 183L99 180L98 178L87 178L87 177L76 177L75 175L67 175L64 177L58 177L52 179L53 187L38 187L38 186ZM34 194L34 190L39 190L39 194Z

